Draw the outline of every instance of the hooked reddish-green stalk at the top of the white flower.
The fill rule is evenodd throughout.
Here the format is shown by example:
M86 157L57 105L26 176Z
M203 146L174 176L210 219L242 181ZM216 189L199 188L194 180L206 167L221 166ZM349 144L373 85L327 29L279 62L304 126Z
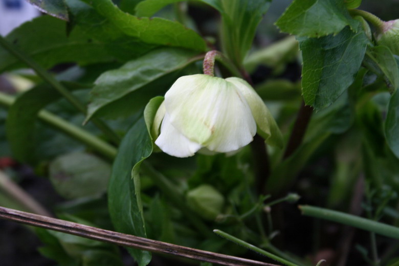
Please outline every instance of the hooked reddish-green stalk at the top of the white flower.
M235 67L233 62L231 62L222 53L216 50L209 51L206 53L203 63L204 74L214 77L215 74L215 60L221 63L234 77L241 77L240 71Z

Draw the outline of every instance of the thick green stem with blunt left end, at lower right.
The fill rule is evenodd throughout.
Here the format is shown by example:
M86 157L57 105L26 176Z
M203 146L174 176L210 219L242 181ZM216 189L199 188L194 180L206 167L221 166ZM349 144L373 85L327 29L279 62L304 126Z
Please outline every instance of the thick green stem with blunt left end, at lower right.
M399 239L399 228L379 223L370 219L358 217L355 215L318 208L313 206L299 206L303 215L317 217L321 219L335 221L340 224L360 228L376 234L388 236L391 238Z

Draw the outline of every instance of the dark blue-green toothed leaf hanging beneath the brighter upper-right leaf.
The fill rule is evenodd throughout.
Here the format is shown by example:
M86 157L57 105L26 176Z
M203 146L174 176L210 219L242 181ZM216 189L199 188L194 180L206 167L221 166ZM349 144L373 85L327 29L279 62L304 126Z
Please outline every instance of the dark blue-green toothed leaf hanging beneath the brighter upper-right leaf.
M353 82L366 52L368 39L346 27L322 38L301 38L302 93L305 103L322 109L333 103Z

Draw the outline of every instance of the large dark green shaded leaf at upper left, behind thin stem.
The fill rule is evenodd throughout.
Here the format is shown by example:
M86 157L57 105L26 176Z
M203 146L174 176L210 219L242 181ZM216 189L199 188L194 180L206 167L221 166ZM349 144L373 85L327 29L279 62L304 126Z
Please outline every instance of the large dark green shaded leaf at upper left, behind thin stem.
M106 19L89 17L91 19L85 20L82 14L81 19L87 24L75 27L67 36L64 21L41 16L16 28L6 39L44 68L64 62L81 65L115 60L124 62L153 49L153 46L143 45L135 38L127 38L115 27L109 27ZM101 26L93 27L88 21ZM0 72L25 67L2 47L0 58Z

